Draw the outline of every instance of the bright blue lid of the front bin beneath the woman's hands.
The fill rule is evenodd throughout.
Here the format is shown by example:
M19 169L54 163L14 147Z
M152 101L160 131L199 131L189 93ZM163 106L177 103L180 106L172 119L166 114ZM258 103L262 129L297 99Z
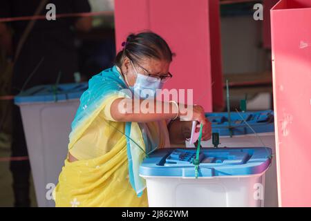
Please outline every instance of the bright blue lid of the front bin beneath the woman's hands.
M267 147L202 148L198 177L254 175L271 164L272 151ZM195 148L161 148L144 159L142 177L195 177Z

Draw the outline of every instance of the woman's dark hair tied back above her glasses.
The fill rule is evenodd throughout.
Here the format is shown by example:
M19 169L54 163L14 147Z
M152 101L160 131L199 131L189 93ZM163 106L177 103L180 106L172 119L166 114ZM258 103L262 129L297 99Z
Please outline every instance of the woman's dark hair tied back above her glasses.
M115 64L122 66L124 57L129 57L133 62L142 58L155 58L172 61L173 53L167 42L153 32L140 32L131 34L122 44L123 49L117 53Z

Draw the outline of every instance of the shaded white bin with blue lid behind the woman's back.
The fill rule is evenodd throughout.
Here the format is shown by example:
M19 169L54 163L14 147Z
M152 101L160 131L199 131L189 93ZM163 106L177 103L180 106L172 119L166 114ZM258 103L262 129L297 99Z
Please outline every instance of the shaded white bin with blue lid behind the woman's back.
M52 191L68 153L70 125L88 84L35 86L15 97L21 109L38 206L55 206Z

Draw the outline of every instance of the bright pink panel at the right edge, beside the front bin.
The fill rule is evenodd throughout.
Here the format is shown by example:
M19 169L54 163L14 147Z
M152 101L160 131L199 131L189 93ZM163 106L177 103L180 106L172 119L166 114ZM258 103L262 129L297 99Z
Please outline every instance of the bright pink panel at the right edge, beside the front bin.
M280 206L311 206L311 1L271 10Z

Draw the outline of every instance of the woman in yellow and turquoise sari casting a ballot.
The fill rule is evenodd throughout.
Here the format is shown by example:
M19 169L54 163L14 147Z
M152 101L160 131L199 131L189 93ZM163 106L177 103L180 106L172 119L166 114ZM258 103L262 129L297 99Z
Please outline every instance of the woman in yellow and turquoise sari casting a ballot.
M193 120L203 125L202 140L211 137L201 106L182 111L176 102L154 99L172 77L172 52L164 39L142 32L129 35L122 46L116 65L92 77L80 99L54 191L56 206L148 206L138 174L144 157L170 142L185 142ZM156 110L160 104L161 111L135 108L146 99L154 104L147 107Z

